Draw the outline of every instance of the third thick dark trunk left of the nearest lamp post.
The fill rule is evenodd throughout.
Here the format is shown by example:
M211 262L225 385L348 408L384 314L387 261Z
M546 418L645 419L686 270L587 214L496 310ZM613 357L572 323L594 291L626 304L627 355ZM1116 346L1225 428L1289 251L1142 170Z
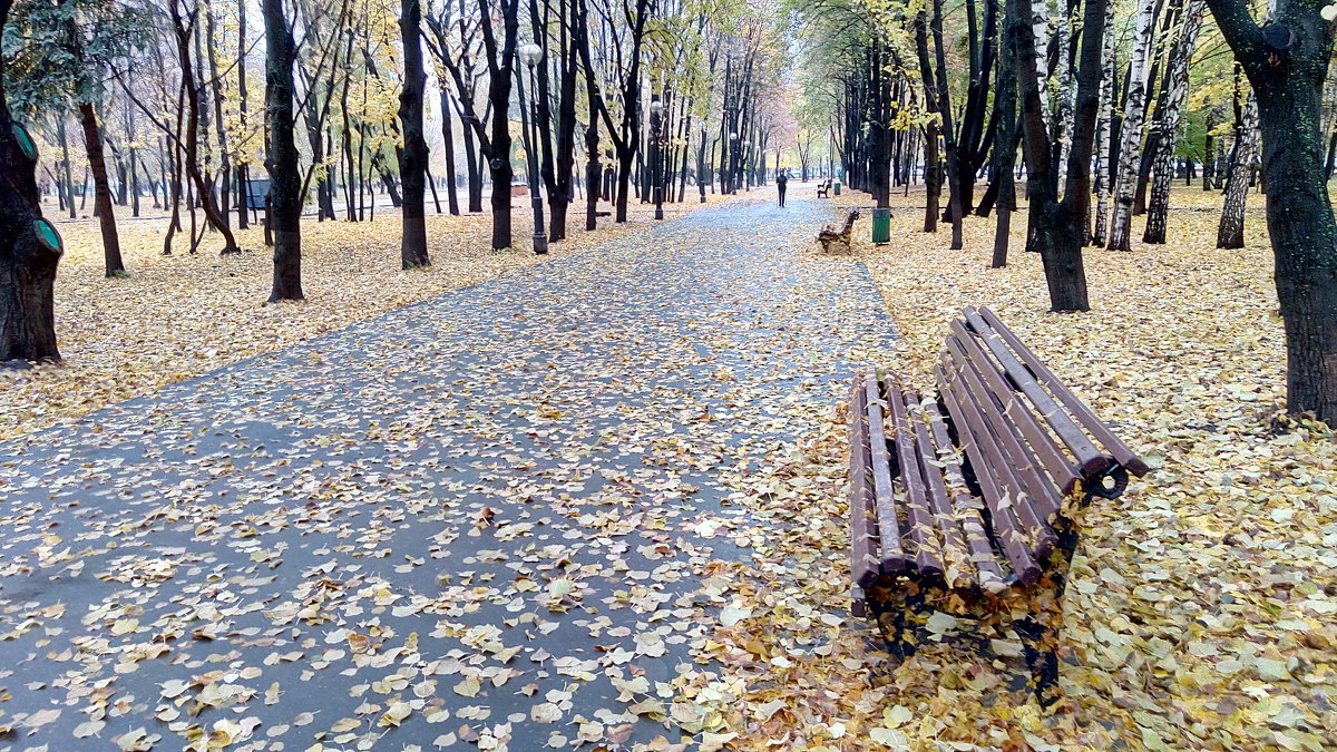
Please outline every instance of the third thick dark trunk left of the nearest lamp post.
M293 62L297 47L283 19L282 0L262 0L265 17L265 110L269 119L270 227L274 233L274 285L270 302L302 300L302 175L297 167L293 115Z

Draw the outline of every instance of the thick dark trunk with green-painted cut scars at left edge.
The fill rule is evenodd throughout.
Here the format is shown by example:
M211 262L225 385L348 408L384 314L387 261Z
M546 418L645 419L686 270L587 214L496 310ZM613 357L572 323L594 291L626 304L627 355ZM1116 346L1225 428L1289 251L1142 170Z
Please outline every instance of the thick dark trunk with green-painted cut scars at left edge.
M0 31L11 5L0 0ZM39 219L37 162L15 135L0 58L0 365L60 360L53 289L62 252L39 241Z

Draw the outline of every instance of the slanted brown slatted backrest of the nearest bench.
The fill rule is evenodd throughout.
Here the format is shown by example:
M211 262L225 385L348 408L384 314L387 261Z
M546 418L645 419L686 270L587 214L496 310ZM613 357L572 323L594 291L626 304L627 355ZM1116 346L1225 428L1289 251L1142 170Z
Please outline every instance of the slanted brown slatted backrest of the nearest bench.
M1023 582L1058 542L1064 496L1116 496L1147 466L987 308L952 321L935 367L967 480Z

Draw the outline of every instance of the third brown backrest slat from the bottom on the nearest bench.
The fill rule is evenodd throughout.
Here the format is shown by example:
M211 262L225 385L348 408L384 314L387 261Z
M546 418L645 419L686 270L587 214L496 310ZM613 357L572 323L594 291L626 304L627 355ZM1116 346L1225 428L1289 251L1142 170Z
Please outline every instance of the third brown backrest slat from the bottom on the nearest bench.
M984 411L989 428L997 436L1012 467L1019 471L1031 498L1038 503L1036 511L1040 519L1048 522L1051 515L1063 508L1063 499L1059 496L1056 482L1046 475L1044 470L1050 470L1050 475L1058 471L1060 479L1068 480L1063 490L1067 492L1079 480L1072 471L1072 462L1063 458L1059 446L1048 432L1038 424L1025 423L1027 419L1035 420L1029 408L1017 404L1017 393L1007 387L997 371L988 367L988 360L979 349L977 343L960 326L960 322L953 322L953 332L956 336L948 337L948 349L956 348L953 355L969 373L969 391ZM989 376L992 376L993 384L987 384ZM999 404L1003 404L1004 408L999 409ZM1044 456L1052 459L1046 462L1042 459ZM1052 468L1050 463L1054 463Z

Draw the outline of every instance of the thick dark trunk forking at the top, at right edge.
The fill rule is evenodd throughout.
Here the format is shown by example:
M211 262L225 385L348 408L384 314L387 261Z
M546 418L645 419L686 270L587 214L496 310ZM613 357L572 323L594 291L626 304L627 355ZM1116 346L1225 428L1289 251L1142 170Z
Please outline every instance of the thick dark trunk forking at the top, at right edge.
M1258 92L1267 233L1286 325L1286 407L1337 426L1337 221L1320 130L1334 31L1320 16L1324 5L1278 0L1265 31L1242 0L1207 0ZM1269 45L1286 36L1289 50Z

